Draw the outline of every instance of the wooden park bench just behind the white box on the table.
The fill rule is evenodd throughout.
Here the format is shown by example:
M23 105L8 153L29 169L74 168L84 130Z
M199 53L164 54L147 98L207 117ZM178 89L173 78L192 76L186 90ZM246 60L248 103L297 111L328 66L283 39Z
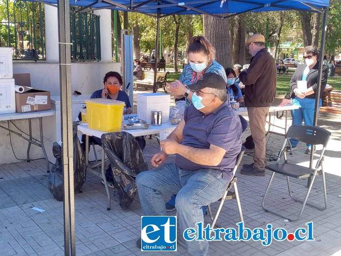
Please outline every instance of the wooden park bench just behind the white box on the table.
M170 74L169 71L162 72L157 71L156 72L156 90L162 88L165 93L167 93L166 90L166 82L167 82L167 75ZM134 80L134 85L137 87L144 87L146 91L148 89L153 89L154 87L154 71L143 71L142 73L142 79L140 80Z

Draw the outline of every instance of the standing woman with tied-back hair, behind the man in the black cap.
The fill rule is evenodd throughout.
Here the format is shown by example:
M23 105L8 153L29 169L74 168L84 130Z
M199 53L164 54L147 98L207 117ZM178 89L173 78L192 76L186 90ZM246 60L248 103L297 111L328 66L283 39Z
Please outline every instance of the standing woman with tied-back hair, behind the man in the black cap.
M193 92L186 85L195 83L205 73L216 73L227 81L223 66L214 60L215 49L205 37L196 36L190 39L185 56L189 63L184 67L179 80L172 84L167 83L175 98L185 96L187 103L191 104Z

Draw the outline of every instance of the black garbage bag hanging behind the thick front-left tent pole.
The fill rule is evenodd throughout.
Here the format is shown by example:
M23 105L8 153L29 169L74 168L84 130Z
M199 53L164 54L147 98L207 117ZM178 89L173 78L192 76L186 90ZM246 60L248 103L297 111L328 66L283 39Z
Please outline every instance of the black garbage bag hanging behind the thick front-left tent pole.
M75 192L81 191L86 180L86 162L83 150L77 136L77 125L79 122L73 122L73 152L74 152L74 189ZM63 165L61 147L57 142L53 143L53 156L56 158L56 163L52 166L49 175L49 190L52 195L58 200L63 200Z

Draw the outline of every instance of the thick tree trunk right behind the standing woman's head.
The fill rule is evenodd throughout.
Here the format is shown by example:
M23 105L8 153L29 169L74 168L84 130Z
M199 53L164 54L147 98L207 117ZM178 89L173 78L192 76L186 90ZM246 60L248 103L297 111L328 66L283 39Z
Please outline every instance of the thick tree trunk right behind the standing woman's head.
M204 35L216 50L216 61L224 68L231 67L228 19L220 20L209 15L204 15L203 19Z

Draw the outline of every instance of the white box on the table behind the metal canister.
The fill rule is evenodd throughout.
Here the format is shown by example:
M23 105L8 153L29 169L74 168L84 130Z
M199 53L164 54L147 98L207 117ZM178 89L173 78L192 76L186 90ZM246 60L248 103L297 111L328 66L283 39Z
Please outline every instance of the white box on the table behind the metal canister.
M170 117L170 95L164 93L139 93L136 97L137 116L152 122L152 111L162 112L162 122L168 122Z

